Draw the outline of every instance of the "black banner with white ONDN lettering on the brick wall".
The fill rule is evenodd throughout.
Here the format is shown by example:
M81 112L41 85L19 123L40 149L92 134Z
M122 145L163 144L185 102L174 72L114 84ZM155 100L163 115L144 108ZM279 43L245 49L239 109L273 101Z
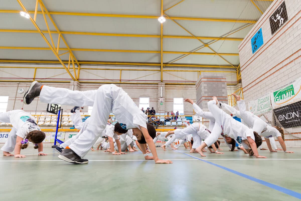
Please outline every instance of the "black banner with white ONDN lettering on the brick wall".
M301 101L273 109L273 111L282 127L301 126Z

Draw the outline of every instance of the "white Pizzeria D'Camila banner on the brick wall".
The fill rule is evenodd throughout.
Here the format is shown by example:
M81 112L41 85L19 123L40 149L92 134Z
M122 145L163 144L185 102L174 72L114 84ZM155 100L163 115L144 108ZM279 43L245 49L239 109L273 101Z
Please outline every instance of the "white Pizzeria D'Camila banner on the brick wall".
M272 110L270 93L266 93L252 101L249 101L249 111L254 115L261 115Z

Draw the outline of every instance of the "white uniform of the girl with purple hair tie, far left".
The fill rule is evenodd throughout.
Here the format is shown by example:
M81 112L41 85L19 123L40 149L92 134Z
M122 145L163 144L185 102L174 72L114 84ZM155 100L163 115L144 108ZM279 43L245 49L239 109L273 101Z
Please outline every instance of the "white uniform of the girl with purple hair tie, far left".
M13 126L8 134L6 143L1 148L1 150L5 152L14 151L17 136L24 139L29 132L41 130L33 116L23 110L12 110L0 113L0 122L10 123Z

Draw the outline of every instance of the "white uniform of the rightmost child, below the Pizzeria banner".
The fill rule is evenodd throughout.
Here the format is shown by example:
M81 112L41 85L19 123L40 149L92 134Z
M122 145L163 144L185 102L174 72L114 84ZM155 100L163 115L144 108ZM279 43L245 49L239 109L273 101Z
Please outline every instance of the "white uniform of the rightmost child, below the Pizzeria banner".
M240 111L240 116L244 121L252 127L252 130L258 133L258 135L270 138L270 137L281 137L281 133L272 126L268 126L261 118L253 115L251 112L246 111L246 105L244 100L237 101L237 105Z

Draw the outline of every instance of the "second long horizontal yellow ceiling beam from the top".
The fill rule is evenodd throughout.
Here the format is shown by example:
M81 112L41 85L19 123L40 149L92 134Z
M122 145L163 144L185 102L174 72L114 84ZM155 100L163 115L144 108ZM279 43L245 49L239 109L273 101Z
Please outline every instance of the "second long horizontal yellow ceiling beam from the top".
M0 32L9 33L39 33L36 30L11 30L11 29L0 29ZM47 30L42 31L43 33ZM50 33L57 33L57 31L50 31ZM144 38L160 38L160 35L149 35L149 34L122 34L122 33L95 33L95 32L73 32L73 31L61 31L62 34L74 34L74 35L89 35L89 36L120 36L120 37L144 37ZM231 38L231 37L214 37L214 36L196 36L197 39L206 40L234 40L242 41L244 38ZM164 35L163 38L182 38L182 39L195 39L192 36L172 36Z

